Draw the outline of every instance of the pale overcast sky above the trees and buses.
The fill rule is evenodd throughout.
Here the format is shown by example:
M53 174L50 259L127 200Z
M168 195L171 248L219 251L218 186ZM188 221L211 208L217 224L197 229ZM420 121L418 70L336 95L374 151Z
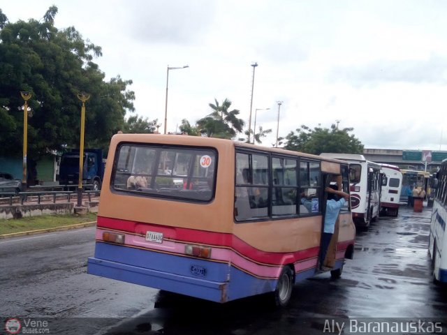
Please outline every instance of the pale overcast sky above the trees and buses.
M369 149L447 150L447 1L21 0L10 22L74 26L101 46L107 80L133 80L135 113L168 131L228 98L271 146L302 124L353 127ZM87 107L88 108L88 107ZM161 131L163 131L161 126Z

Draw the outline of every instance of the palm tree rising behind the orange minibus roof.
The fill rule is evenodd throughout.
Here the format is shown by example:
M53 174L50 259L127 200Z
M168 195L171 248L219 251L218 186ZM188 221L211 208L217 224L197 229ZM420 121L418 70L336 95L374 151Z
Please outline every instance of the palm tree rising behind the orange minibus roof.
M221 105L216 98L214 101L209 104L212 113L197 121L198 130L207 137L234 138L244 128L244 120L237 118L239 110L230 110L231 101L227 98Z

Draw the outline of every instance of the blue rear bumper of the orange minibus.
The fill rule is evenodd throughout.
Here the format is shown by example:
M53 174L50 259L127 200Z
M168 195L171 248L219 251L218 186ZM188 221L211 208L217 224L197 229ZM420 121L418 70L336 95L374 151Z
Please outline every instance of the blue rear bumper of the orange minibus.
M180 276L94 257L89 258L87 261L87 274L220 303L228 301L228 283L205 281L200 278Z

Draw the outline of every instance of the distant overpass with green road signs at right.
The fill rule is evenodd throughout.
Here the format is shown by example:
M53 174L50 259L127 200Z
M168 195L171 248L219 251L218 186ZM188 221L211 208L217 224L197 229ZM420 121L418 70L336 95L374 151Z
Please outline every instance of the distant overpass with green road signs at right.
M427 164L427 172L436 172L441 161L447 158L447 151L363 149L363 156L368 161L398 165L408 170L424 171Z

